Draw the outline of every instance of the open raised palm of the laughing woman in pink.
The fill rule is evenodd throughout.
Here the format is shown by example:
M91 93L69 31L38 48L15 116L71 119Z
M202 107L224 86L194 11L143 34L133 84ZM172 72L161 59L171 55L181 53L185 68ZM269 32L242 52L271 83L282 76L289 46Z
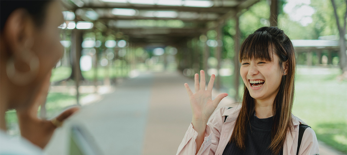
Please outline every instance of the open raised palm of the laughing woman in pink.
M215 79L215 75L211 75L210 82L207 86L207 90L205 90L205 72L203 70L200 71L201 81L199 84L199 75L195 74L194 76L194 88L195 93L189 88L188 84L185 83L187 93L189 95L189 100L192 106L193 119L197 121L207 122L207 120L212 115L213 111L217 108L219 102L228 96L227 93L221 93L212 100L212 88Z

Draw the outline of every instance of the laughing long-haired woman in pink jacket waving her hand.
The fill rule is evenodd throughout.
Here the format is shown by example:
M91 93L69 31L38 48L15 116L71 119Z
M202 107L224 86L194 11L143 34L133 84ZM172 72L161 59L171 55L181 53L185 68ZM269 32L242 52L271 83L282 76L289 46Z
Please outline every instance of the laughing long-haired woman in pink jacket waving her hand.
M228 95L221 93L212 100L215 75L207 90L204 71L200 84L195 74L195 93L185 83L193 118L177 155L319 154L313 129L291 113L296 60L288 36L277 27L257 29L243 41L239 61L244 82L242 105L213 113ZM299 135L303 127L303 135Z

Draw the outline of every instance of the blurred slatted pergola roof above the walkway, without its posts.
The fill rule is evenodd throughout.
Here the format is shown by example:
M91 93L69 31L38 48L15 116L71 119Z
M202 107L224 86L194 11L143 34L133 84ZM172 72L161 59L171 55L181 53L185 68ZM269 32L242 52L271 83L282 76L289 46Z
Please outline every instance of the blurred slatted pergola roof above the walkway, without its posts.
M99 22L135 43L177 43L232 18L258 0L69 0L78 20ZM96 27L98 24L94 24Z

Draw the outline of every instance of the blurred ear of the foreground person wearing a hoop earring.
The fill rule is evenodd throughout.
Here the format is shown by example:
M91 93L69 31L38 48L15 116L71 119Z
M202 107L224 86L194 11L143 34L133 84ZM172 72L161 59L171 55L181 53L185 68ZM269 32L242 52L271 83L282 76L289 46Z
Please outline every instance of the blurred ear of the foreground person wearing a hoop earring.
M4 41L9 56L18 60L23 56L24 50L32 48L33 28L32 18L25 9L16 9L10 14L3 28Z

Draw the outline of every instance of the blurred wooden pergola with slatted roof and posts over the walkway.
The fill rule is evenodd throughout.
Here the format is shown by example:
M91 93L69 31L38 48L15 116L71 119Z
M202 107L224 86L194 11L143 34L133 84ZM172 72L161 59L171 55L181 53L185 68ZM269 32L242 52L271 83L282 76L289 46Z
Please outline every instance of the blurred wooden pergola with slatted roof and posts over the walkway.
M203 66L208 69L207 60L209 47L205 43L201 56L196 55L197 49L187 48L189 39L198 38L209 30L217 32L217 39L222 40L221 28L228 19L236 21L235 40L235 71L239 69L238 51L240 45L239 16L259 0L68 0L65 7L74 12L77 21L91 21L94 28L103 33L120 32L126 37L131 46L175 46L178 49L179 69L193 68L195 60L201 59ZM270 25L277 25L278 1L269 0ZM150 24L146 23L150 22ZM82 31L74 29L71 41L74 47L71 52L81 51ZM215 46L215 56L218 60L217 70L220 69L221 46ZM76 62L81 53L76 52ZM197 60L199 62L200 60ZM200 64L199 64L200 65ZM196 66L196 64L195 64ZM78 70L79 63L74 69ZM195 70L195 69L194 69ZM78 88L79 75L75 74ZM235 90L239 87L239 74L235 75ZM216 77L215 86L220 88L220 76ZM77 89L78 90L78 89ZM238 97L238 91L235 95ZM77 97L78 98L78 97ZM77 99L78 100L78 99Z

